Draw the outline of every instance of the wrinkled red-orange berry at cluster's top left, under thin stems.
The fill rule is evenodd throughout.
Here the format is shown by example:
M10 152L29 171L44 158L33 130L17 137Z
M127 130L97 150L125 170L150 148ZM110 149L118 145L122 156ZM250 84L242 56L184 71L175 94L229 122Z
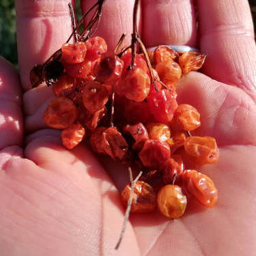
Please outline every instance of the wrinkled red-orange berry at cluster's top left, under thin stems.
M63 44L61 47L61 59L63 62L74 64L85 60L86 46L84 42L75 44Z

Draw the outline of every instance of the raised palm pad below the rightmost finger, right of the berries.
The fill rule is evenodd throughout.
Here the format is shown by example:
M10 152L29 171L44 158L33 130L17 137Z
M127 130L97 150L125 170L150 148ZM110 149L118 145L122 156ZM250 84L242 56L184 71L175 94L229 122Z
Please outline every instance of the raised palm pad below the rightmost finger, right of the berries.
M190 72L177 87L177 101L191 104L201 114L194 136L214 137L218 145L256 145L255 103L244 91Z

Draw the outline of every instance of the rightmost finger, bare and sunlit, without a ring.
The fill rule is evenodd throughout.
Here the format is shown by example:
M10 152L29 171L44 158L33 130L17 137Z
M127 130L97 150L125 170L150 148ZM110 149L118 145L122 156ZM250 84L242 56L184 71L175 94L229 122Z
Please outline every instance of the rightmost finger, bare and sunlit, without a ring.
M256 99L256 46L247 0L198 0L203 71Z

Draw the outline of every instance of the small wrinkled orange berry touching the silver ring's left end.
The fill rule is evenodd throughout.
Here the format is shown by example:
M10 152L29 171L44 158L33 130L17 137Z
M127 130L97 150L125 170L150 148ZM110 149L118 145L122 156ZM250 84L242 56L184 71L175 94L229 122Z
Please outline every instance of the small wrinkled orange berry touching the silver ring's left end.
M168 46L160 45L154 51L154 61L156 64L162 61L177 61L179 54Z

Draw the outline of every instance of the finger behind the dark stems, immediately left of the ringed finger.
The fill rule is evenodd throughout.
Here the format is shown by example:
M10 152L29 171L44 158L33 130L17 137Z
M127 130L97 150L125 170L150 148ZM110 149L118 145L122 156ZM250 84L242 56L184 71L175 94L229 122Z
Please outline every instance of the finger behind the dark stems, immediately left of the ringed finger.
M94 0L81 0L83 13L94 5L94 3ZM122 33L127 33L124 45L130 45L133 5L134 0L108 0L104 3L102 18L96 35L106 40L110 51L115 48ZM86 22L89 21L88 18L85 20ZM140 24L140 20L140 11L138 10L138 25Z

